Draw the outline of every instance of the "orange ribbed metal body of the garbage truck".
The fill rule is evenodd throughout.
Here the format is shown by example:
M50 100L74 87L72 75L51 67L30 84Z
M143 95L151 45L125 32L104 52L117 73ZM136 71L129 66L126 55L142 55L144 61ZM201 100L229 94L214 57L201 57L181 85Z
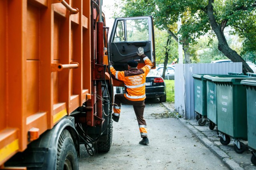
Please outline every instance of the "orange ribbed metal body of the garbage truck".
M101 123L93 83L109 74L102 75L107 56L96 64L97 45L107 47L96 41L96 8L64 2L74 11L62 0L0 0L0 169L85 102L92 109L76 121Z

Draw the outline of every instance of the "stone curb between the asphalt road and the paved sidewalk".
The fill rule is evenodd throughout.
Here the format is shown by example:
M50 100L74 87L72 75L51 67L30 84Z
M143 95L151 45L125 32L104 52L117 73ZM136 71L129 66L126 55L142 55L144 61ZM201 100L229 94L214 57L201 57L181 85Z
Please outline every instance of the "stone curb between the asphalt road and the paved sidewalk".
M174 111L174 109L169 108L167 104L162 103L168 111ZM203 133L198 131L194 126L190 125L190 123L186 122L186 119L178 119L191 133L193 133L198 140L204 144L205 147L210 149L212 153L214 153L222 162L230 169L230 170L244 170L237 162L235 162L228 154L226 154L223 150L216 147L216 145L205 137Z

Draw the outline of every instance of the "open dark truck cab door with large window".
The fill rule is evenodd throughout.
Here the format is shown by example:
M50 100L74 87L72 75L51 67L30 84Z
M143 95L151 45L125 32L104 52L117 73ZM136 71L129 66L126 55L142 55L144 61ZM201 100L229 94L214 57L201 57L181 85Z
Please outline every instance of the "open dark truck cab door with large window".
M127 62L135 60L138 68L145 66L138 54L139 47L155 68L154 25L152 16L116 18L111 31L108 56L118 71L128 70ZM115 84L114 84L115 86Z

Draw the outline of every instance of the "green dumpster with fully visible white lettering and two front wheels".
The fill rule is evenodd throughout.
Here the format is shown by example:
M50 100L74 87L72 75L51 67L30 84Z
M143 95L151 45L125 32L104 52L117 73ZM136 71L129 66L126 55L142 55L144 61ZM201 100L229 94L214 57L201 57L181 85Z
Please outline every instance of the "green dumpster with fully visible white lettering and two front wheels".
M242 153L246 149L240 139L247 140L246 87L241 80L256 77L234 75L233 77L215 77L217 90L217 121L220 131L220 143L228 145L233 138L234 150ZM229 137L230 136L230 137Z

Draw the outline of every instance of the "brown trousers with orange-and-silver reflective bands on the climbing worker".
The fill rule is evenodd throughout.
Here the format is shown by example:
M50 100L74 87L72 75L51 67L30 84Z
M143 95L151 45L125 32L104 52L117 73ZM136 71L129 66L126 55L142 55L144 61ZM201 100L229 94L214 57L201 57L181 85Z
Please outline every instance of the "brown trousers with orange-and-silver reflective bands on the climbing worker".
M131 101L124 97L124 94L116 94L114 99L114 115L120 116L121 112L121 103L132 105L135 111L137 121L140 128L140 136L147 137L147 124L143 117L144 108L145 108L145 100L142 101Z

